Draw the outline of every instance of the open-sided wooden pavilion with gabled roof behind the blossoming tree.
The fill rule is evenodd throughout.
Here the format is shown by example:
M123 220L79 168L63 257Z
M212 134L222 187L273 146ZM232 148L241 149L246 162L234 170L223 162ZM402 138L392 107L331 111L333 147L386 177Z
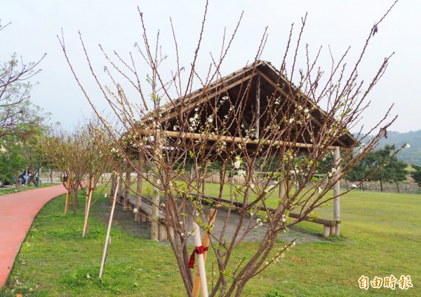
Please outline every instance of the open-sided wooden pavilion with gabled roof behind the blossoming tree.
M295 102L291 102L291 100L295 100ZM278 103L276 104L276 102ZM285 102L288 104L284 104ZM201 111L203 111L200 114L196 113L197 106L201 106ZM290 116L292 107L308 111L312 129L301 131L298 134L293 128L288 130L288 134L285 134L282 140L265 138L264 131L271 121L275 120L279 123L280 130L288 125L284 118ZM312 99L300 95L298 88L289 83L272 64L265 61L257 61L234 71L232 74L210 83L206 88L201 88L182 99L166 104L161 110L160 135L165 148L178 148L179 139L189 141L192 146L197 141L205 142L208 151L215 151L218 141L224 141L227 145L245 144L248 153L253 153L256 147L265 145L271 147L289 146L299 151L323 145L335 152L336 162L340 158L341 148L351 148L356 144L356 139L349 132L343 133L341 137L330 144L325 144L322 141L314 143L312 139L315 139L315 135L319 134L327 121L332 121L332 117L327 116L327 113L316 106ZM240 111L241 115L235 114ZM233 120L226 126L227 129L223 133L217 128L214 133L206 135L201 131L201 127L206 124L207 120L212 121L213 127L218 127L218 121L222 119L229 121L233 114L235 114L235 118L241 118L241 122ZM209 115L213 115L213 117L210 118ZM190 130L180 131L178 129L180 123L192 118L199 125L190 128ZM145 116L140 121L138 134L142 137L153 135L154 124L156 125L154 116ZM339 173L336 172L336 174ZM339 181L336 181L334 195L335 197L339 195ZM128 202L128 192L126 200ZM132 199L133 207L140 207L139 200L140 195L137 201ZM152 208L152 212L156 215L158 207L153 205ZM317 223L315 219L312 221ZM340 234L339 197L334 200L333 220L323 221L320 219L319 221L325 226L323 233L325 236L333 233Z

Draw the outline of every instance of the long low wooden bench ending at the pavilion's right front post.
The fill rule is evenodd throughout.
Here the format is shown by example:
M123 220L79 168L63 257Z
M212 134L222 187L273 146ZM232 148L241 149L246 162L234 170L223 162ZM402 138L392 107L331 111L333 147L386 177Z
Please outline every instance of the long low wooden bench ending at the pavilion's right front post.
M190 195L197 197L198 195L196 193L190 193ZM222 202L222 203L227 203L227 204L232 204L236 207L242 207L243 206L243 202L231 202L231 200L227 200L227 199L220 199L220 198L216 198L216 197L212 197L212 196L203 196L201 195L202 198L205 198L206 200L212 200L212 202ZM270 208L270 207L263 207L260 206L258 207L258 210L262 210L262 211L266 211L269 210L269 212L274 212L275 209ZM335 234L335 228L336 228L336 224L340 223L340 221L335 221L332 219L323 219L323 218L312 218L309 215L307 216L301 216L298 212L290 212L288 214L288 216L290 216L291 218L294 219L299 219L300 217L302 217L303 221L310 221L313 223L319 223L321 225L323 225L323 237L328 237L330 235L334 235Z

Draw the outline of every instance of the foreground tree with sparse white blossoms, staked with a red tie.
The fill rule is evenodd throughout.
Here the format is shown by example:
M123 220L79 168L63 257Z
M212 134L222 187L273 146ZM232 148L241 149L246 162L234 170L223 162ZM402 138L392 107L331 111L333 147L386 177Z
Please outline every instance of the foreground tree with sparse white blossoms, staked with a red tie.
M267 265L277 263L286 249L293 246L294 242L286 246L280 245L276 240L278 235L286 232L289 226L302 221L304 216L313 212L316 207L335 198L329 194L335 181L344 177L367 153L373 150L391 124L391 122L381 120L373 127L373 130L369 131L369 134L375 133L375 137L368 141L368 145L357 151L354 149L354 146L358 144L356 142L352 147L344 149L342 158L314 182L317 164L326 156L330 145L335 144L340 137L347 134L349 129L355 127L361 119L361 114L366 109L364 102L367 95L384 73L389 57L382 60L380 69L375 72L373 79L364 89L363 84L358 83L357 72L372 38L370 28L366 43L354 68L347 69L348 63L345 63L347 53L345 53L338 62L332 59L331 71L323 72L314 67L319 56L310 58L306 47L307 64L300 71L296 67L298 63L296 57L300 55L302 49L300 41L305 18L302 19L297 47L290 48L291 32L283 61L277 69L279 81L284 83L283 87L287 90L287 95L281 97L274 93L267 98L265 116L260 116L262 123L265 123L264 129L260 130L258 137L255 137L256 126L242 127L243 114L247 108L244 97L230 98L225 88L225 81L222 83L220 96L209 99L207 93L211 88L211 82L222 78L220 69L234 36L232 39L224 40L224 45L227 46L222 47L218 59L212 56L207 74L199 76L196 62L201 49L205 13L192 62L189 63L189 67L183 67L177 60L175 70L170 76L168 71L161 71L161 64L165 62L166 56L161 55L159 39L154 46L150 45L142 13L140 13L140 18L144 42L142 45L136 43L135 48L140 53L140 60L143 60L149 69L146 83L143 83L145 78L138 72L138 69L145 67L145 64L138 65L138 57L131 53L130 59L125 61L121 55L115 53L116 60L114 60L103 50L107 59L105 72L110 78L110 85L105 87L104 83L99 81L99 76L90 62L88 51L83 47L93 78L113 109L118 126L123 127L123 132L116 133L113 125L102 116L100 111L95 109L95 112L104 123L109 138L113 139L112 150L123 157L133 172L140 174L163 195L162 202L156 202L150 198L145 199L148 199L154 207L159 207L167 218L165 228L170 234L168 240L173 248L178 271L189 296L192 296L193 278L188 267L190 252L187 249L187 243L189 236L196 232L194 223L197 223L201 230L209 229L207 216L203 212L200 200L201 196L206 196L202 190L203 177L211 164L216 160L221 162L220 194L215 199L215 203L224 198L224 189L229 191L227 198L230 203L229 205L219 204L220 209L225 209L227 216L216 223L226 227L232 210L237 209L239 225L236 226L230 241L225 237L225 227L222 228L220 234L210 235L210 247L215 254L218 266L215 269L215 282L210 295L232 296L235 294L239 296L248 279L258 275ZM379 25L384 18L376 22L376 25ZM173 33L176 36L175 32ZM253 71L256 71L255 67L259 63L265 40L266 35L263 36L255 60L251 64L254 65L251 67L252 74L255 74ZM64 39L60 39L60 43L76 81L92 104L91 97L72 68ZM178 57L176 40L175 47L175 56ZM295 58L287 67L286 57L290 54ZM187 76L181 74L181 69L188 69ZM292 83L294 78L298 81L296 85ZM127 82L126 88L123 88L122 81ZM188 95L194 89L194 81L200 84L201 100L193 104L189 101ZM251 92L250 85L250 83L243 85L245 94ZM128 99L128 94L133 90L137 92L136 97L139 99L134 104ZM314 109L317 109L316 105L321 102L328 102L327 110L323 113L323 125L317 133L314 133L315 127L310 115ZM280 104L282 108L279 108ZM174 125L166 120L165 111L171 106L174 107L174 113L178 119ZM221 116L219 111L224 111L224 114ZM255 115L255 117L258 116ZM232 131L232 127L236 127L235 131ZM172 138L168 137L169 130L175 132ZM194 141L187 137L192 133L198 135ZM309 134L309 143L313 145L307 150L299 151L290 144L300 142L300 136L303 133ZM226 139L238 137L239 134L243 141L226 141ZM362 132L358 135L359 141L366 137L367 134ZM286 143L286 139L290 142ZM248 149L250 141L255 145L253 150ZM267 143L277 145L267 146ZM143 156L147 170L144 165L140 165L142 163L138 160L133 160L133 156ZM273 156L281 156L281 158L273 158ZM121 164L118 161L109 158L109 163L113 165L114 171L119 172ZM194 170L192 178L187 177L188 167ZM225 176L231 172L230 167L237 170L243 177L245 180L243 184L236 185L232 181L225 183ZM259 174L268 167L272 168L271 172L265 175ZM284 191L279 195L277 206L269 209L266 202L278 184L284 186ZM295 185L295 191L290 191L293 185ZM192 192L197 193L199 200L194 200L187 189L192 189ZM135 189L132 191L135 192ZM234 202L242 203L238 205ZM262 212L262 217L257 216L258 209ZM291 211L299 212L301 216L298 219L287 220ZM156 221L155 217L154 220ZM264 221L265 224L263 224ZM244 257L238 250L239 244L254 228L264 228L262 230L264 236L258 249L250 256Z

